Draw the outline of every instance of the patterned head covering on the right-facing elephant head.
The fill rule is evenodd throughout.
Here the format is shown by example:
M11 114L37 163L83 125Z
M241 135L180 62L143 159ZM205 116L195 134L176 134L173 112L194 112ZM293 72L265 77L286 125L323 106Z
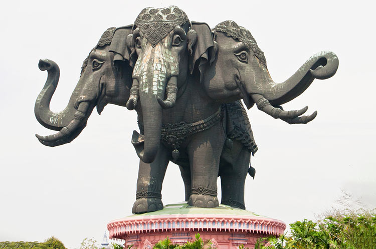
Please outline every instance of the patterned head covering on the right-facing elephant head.
M247 29L238 26L234 21L228 20L218 24L213 30L223 32L226 34L226 36L230 36L234 39L238 39L241 42L245 42L259 61L261 61L266 67L264 52L262 52L259 46L257 46L255 38L253 38L251 32L249 32Z

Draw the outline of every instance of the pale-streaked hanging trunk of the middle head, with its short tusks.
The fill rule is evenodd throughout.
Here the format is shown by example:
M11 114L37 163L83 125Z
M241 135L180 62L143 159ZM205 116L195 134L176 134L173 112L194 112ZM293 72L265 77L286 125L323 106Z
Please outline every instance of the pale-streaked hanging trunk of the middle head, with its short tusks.
M177 76L179 64L177 58L168 50L170 39L155 47L143 45L141 54L133 70L133 86L139 94L138 102L142 110L144 141L134 133L132 143L138 157L145 163L154 161L159 149L163 109L171 108L176 101ZM142 42L143 43L143 42ZM136 91L135 91L136 93ZM135 94L135 96L137 93ZM166 99L164 100L164 97ZM127 103L127 107L137 104L137 97Z

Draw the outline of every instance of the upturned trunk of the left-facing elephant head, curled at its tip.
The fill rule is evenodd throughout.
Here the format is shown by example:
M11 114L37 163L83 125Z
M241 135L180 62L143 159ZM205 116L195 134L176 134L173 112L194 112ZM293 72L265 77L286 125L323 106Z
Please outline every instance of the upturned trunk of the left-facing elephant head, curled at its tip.
M50 102L59 82L59 66L55 62L47 59L40 60L38 66L42 71L47 70L48 77L35 102L35 117L44 127L59 131L63 127L68 126L68 124L73 120L76 112L75 102L84 83L83 81L79 81L71 95L67 107L63 111L52 112L50 110Z

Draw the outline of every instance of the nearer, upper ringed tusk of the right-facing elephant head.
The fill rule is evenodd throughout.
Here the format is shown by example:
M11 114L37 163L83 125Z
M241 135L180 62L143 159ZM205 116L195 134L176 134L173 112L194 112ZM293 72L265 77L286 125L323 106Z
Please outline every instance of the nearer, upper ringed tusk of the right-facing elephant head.
M294 119L305 113L308 109L308 106L303 107L300 110L291 110L284 111L281 108L274 107L270 102L260 94L252 94L252 99L255 101L257 108L266 114L272 116L273 118L285 118L285 119Z

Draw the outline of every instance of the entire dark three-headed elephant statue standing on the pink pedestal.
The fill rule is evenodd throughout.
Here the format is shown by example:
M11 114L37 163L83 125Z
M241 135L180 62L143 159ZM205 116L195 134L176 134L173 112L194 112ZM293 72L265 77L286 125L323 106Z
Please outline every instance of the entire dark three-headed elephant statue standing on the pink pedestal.
M190 21L175 6L145 8L134 24L110 28L85 60L68 106L59 113L49 103L59 80L59 68L40 61L48 79L35 104L35 115L46 128L37 135L47 146L71 142L86 126L94 107L108 103L135 109L139 132L132 144L140 158L133 213L163 208L161 188L169 161L179 165L185 200L196 207L216 207L217 177L221 203L245 209L244 183L250 155L258 147L243 99L289 124L306 124L317 112L308 107L285 111L281 105L303 93L314 79L327 79L338 68L332 52L308 59L289 79L275 83L264 53L251 33L234 21L213 30Z

